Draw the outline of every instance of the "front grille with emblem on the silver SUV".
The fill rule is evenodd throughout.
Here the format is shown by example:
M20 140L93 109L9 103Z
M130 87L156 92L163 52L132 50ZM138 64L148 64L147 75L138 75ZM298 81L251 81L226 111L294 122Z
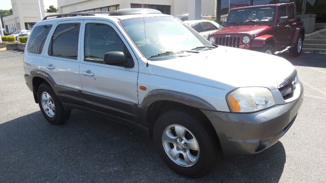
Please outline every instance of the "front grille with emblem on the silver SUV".
M295 77L296 77L296 70L294 70L289 77L287 77L285 80L283 80L278 84L278 89L284 100L293 97L295 84L296 84Z

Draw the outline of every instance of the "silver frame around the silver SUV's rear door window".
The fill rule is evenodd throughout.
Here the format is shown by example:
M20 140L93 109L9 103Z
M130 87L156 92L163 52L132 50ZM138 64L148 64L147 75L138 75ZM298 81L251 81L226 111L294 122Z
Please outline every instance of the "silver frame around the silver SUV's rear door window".
M50 52L50 49L52 49L52 39L53 39L53 35L55 34L56 32L56 29L58 28L59 25L62 25L62 24L79 24L79 34L78 34L78 43L77 43L77 57L76 58L72 58L72 57L67 57L67 56L55 56L53 54L49 54ZM50 56L52 58L64 58L64 59L71 59L71 60L79 60L80 58L80 55L79 55L79 52L80 52L80 35L82 34L82 28L83 28L83 20L67 20L67 21L59 21L56 23L55 26L53 26L51 32L49 33L51 36L50 36L50 39L48 41L47 44L47 50L46 50L46 54L47 56Z

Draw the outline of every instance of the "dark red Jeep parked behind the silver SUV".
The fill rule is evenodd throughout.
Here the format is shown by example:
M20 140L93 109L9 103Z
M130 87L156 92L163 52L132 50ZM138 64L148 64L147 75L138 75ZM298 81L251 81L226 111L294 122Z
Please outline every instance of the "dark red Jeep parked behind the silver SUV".
M223 29L208 37L216 45L277 54L289 50L300 55L305 28L296 18L294 3L230 10Z

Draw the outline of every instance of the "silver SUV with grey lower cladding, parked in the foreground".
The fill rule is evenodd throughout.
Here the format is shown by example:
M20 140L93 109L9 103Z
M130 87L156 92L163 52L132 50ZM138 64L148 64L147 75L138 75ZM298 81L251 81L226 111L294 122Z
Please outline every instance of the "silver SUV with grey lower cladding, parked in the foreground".
M182 175L267 149L302 104L286 59L215 47L157 10L51 17L34 25L24 52L24 78L46 120L63 124L83 109L132 125Z

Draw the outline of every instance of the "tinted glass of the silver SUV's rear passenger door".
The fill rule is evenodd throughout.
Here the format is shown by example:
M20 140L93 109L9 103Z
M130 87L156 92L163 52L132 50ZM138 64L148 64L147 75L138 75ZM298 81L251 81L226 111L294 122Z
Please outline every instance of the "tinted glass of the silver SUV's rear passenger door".
M79 23L58 25L49 45L49 55L77 59L79 27Z

